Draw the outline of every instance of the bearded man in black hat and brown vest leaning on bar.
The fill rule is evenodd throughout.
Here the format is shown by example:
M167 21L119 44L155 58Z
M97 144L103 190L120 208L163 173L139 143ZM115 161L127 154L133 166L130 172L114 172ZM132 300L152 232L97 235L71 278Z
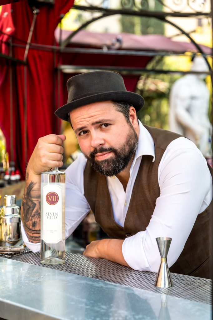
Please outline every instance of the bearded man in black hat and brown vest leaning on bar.
M212 178L201 152L176 133L142 125L143 98L115 72L77 75L67 87L68 103L56 115L70 121L82 155L66 170L66 236L91 209L111 239L93 241L85 255L157 272L156 237L167 236L171 271L208 278ZM40 173L62 166L64 140L40 138L27 166L22 233L33 251L40 249Z

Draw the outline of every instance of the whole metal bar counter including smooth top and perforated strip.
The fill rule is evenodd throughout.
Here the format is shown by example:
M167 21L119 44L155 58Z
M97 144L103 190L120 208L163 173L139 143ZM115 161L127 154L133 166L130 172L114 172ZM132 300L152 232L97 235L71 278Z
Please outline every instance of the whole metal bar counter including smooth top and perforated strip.
M39 253L0 257L0 318L210 320L211 280L171 276L174 287L160 289L155 273L80 254L59 266L41 265Z

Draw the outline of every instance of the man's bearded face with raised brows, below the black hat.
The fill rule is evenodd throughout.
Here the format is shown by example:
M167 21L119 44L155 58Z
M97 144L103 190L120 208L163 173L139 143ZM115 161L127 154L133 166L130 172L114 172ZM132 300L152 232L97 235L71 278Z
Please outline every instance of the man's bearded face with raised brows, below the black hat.
M81 151L96 171L114 176L126 168L138 143L135 119L127 123L111 101L74 109L70 118Z

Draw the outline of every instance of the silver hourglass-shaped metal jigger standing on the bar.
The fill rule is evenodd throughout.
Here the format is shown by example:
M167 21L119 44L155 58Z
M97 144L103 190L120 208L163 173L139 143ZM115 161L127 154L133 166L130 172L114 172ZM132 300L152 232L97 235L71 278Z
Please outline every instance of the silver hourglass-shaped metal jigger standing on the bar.
M173 287L173 282L171 280L171 274L167 264L167 254L171 244L171 238L159 237L156 238L156 241L161 255L161 265L156 276L155 287L171 288Z

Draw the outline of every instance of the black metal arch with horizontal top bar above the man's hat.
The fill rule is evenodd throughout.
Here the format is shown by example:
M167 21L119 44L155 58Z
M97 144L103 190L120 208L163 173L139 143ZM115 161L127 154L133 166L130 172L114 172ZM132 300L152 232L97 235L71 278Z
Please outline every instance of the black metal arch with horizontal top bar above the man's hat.
M105 18L105 17L109 17L109 16L112 16L112 15L115 15L115 14L124 14L124 15L133 15L133 16L141 16L141 17L152 17L152 18L156 18L158 20L161 20L161 21L164 21L166 23L169 23L171 24L174 28L177 28L182 34L184 34L185 36L187 36L189 38L189 40L195 45L195 47L198 49L198 51L203 55L204 52L202 50L202 48L200 47L199 44L197 44L194 39L186 32L184 31L182 28L180 28L179 26L177 26L175 23L171 22L170 20L167 20L165 19L166 16L168 15L172 15L174 16L174 13L172 14L168 14L167 12L166 13L163 13L163 14L156 14L156 12L147 12L145 10L143 11L137 11L137 12L134 12L134 11L127 11L127 10L113 10L113 9L104 9L104 8L97 8L97 7L86 7L86 6L80 6L80 5L74 5L73 8L75 9L78 9L78 10L85 10L85 11L91 11L92 9L94 9L94 11L99 11L99 12L106 12L106 13L103 13L101 16L98 16L96 18L93 18L87 22L85 22L84 24L82 24L77 30L73 31L71 35L69 35L62 43L62 47L65 47L69 42L70 40L72 39L73 36L75 36L80 30L82 30L83 28L87 27L90 23L94 22L94 21L97 21L97 20L100 20L102 18ZM209 16L209 14L196 14L196 15L204 15L204 16ZM176 16L176 15L175 15ZM182 15L181 15L182 16ZM205 59L207 65L208 65L208 68L209 68L209 71L211 72L212 69L211 69L211 66L209 64L209 61L207 60L206 56L203 55L203 58Z

